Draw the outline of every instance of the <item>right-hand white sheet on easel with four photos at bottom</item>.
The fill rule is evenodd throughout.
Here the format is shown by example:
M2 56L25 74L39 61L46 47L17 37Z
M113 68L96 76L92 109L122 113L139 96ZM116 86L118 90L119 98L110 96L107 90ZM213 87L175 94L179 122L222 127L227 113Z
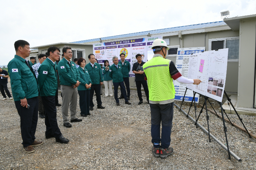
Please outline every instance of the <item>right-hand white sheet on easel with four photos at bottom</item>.
M228 64L228 49L209 51L209 66L206 95L219 102L222 101Z

